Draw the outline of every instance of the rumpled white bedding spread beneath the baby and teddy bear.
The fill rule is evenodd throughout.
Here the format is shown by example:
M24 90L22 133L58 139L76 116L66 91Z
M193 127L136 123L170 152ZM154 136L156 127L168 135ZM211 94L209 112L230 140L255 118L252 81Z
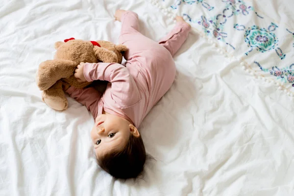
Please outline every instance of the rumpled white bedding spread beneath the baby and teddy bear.
M286 54L281 60L275 49L254 49L246 56L245 30L232 27L237 16L224 28L225 41L203 33L197 19L214 17L224 9L223 1L182 0L177 5L178 0L163 0L153 6L144 0L2 0L0 195L293 196L294 91L286 71L294 60L294 38L283 32L294 32L294 3L245 1L255 10L241 25L262 25L254 12L267 20L264 24L277 21L272 21L279 26L274 33L285 36L278 43ZM144 180L114 180L96 164L91 114L73 99L64 112L50 109L41 100L35 72L52 58L56 41L74 37L117 43L121 24L113 15L119 8L137 12L141 32L159 40L173 25L172 15L158 7L172 5L177 9L163 11L193 17L194 30L174 58L171 90L140 127L156 161L146 164ZM265 71L256 59L268 66ZM286 82L270 73L272 66L285 71Z

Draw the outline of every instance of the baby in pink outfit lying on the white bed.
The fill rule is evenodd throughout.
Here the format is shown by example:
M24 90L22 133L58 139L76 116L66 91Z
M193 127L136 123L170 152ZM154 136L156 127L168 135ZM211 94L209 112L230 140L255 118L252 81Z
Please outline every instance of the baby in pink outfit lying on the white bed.
M125 45L125 67L117 63L80 63L74 76L79 81L109 81L101 95L94 88L64 90L94 116L91 138L98 165L116 178L136 178L142 171L146 152L138 127L144 117L169 90L175 77L172 56L191 29L177 16L173 30L159 43L139 32L138 15L117 10L122 22L119 38Z

